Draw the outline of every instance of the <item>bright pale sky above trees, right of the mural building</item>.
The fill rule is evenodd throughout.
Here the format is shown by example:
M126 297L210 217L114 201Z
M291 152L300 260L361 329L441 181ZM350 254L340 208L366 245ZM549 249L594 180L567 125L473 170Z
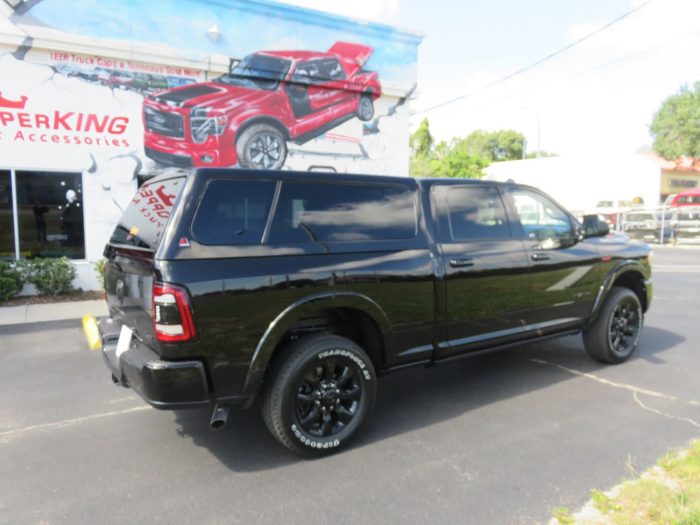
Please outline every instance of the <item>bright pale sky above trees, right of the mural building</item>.
M662 101L700 81L698 0L282 0L423 34L413 129L438 140L475 129L525 133L527 150L587 155L649 148ZM470 93L606 23L623 21L522 75Z

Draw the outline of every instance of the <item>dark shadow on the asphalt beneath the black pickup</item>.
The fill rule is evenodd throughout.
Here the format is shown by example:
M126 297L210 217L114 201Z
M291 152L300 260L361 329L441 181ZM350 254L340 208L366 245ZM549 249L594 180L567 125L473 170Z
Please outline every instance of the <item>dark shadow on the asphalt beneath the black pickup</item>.
M630 362L646 360L662 365L662 354L683 341L678 334L647 326ZM551 365L591 373L606 368L585 353L579 336L571 336L451 361L430 370L416 367L397 372L379 381L377 404L368 426L341 454L353 454L375 442L578 377ZM250 410L231 410L227 425L217 432L209 429L210 417L209 410L178 411L177 431L233 471L270 470L304 461L269 434L259 403Z

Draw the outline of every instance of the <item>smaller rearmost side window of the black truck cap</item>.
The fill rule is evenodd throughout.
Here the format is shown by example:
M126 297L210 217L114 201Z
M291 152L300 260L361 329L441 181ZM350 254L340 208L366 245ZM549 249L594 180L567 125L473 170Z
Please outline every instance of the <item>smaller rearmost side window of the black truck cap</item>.
M192 224L202 244L259 244L275 192L271 181L212 180Z

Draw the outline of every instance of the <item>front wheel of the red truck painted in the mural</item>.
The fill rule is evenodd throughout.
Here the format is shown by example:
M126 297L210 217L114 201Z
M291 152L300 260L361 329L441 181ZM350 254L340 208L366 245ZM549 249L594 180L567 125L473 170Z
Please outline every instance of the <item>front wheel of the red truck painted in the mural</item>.
M238 164L244 168L278 170L287 158L287 142L269 124L255 124L236 141Z

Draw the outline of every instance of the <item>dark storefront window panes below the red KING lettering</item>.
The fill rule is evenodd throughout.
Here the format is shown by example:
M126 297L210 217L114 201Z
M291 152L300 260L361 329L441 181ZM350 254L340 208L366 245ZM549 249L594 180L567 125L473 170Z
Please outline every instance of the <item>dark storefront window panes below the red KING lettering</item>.
M0 257L85 258L80 173L0 171L0 215Z

